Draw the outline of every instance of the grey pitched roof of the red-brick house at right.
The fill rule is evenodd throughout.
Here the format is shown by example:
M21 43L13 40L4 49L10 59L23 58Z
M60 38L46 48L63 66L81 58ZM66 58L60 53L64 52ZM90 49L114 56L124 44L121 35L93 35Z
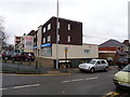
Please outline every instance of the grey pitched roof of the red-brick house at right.
M100 47L117 47L117 46L125 46L125 44L122 44L121 42L117 41L117 40L108 40L102 44L99 45Z

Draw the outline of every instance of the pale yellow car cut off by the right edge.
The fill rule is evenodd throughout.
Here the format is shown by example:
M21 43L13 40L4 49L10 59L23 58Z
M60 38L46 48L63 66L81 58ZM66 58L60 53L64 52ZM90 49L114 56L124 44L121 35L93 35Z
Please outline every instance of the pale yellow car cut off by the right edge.
M114 75L113 82L117 88L130 89L130 64Z

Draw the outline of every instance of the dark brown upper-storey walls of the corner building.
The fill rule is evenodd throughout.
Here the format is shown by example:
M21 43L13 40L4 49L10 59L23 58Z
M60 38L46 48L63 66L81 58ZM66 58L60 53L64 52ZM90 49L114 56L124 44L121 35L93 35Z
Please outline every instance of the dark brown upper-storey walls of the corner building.
M41 39L42 44L56 43L56 17L50 18L42 26L42 29L43 29L42 39ZM82 44L82 23L58 18L58 36L60 36L60 41L58 41L60 44L81 45ZM51 38L50 41L48 41L48 37ZM68 42L68 37L70 38L69 42ZM43 39L46 39L46 42Z

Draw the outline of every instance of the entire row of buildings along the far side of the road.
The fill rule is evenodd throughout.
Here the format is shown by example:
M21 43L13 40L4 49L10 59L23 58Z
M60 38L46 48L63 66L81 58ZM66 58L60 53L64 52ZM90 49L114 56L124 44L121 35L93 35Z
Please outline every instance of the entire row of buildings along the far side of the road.
M56 36L56 28L58 33ZM57 37L57 38L56 38ZM56 44L56 39L57 43ZM120 43L116 40L98 44L82 43L82 23L51 17L46 24L40 25L37 30L31 30L23 37L15 37L15 48L24 52L34 52L36 57L51 59L58 58L61 61L67 60L86 60L91 58L105 58L115 60L121 53L127 51L127 43ZM67 53L67 54L66 54ZM125 54L123 54L125 55ZM126 55L125 55L126 56Z

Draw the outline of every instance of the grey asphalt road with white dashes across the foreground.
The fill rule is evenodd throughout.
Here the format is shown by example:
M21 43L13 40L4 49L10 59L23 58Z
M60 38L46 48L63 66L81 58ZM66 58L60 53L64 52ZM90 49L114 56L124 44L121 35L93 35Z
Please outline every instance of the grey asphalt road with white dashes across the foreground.
M65 75L3 74L2 95L128 95L116 89L113 75L118 70Z

